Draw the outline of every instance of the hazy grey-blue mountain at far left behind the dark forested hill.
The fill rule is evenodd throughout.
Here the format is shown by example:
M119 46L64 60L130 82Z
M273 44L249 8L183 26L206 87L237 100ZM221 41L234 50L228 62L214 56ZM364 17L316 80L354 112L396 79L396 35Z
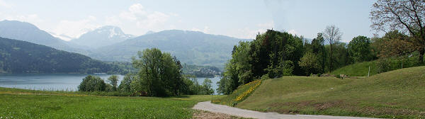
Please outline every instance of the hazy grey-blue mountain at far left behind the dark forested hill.
M21 21L0 21L0 37L33 42L68 52L87 54L87 51L81 50L78 45L55 38L46 31L40 30L37 26Z

